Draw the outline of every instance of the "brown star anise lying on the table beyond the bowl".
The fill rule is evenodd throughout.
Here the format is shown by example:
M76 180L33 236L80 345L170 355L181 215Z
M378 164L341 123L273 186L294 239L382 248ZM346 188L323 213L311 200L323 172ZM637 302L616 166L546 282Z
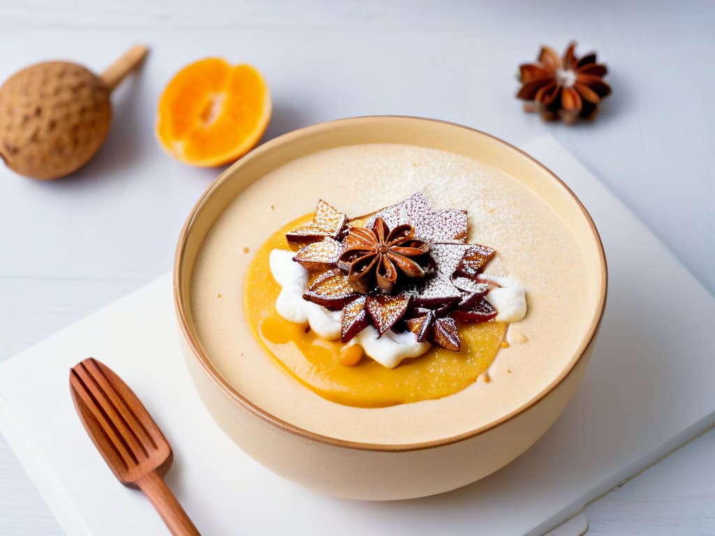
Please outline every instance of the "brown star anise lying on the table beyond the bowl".
M561 119L569 124L578 117L591 119L598 103L611 94L611 86L603 81L606 66L596 63L596 53L578 58L575 51L573 41L563 58L542 46L536 63L519 66L522 86L516 96L535 101L543 119ZM527 109L527 104L524 106Z

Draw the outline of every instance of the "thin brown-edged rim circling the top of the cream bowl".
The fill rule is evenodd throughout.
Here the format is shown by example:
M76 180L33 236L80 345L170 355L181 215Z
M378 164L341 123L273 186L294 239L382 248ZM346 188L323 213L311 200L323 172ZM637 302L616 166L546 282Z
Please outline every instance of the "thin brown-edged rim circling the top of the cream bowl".
M204 354L200 345L197 344L197 340L194 340L194 337L192 337L192 334L189 330L188 321L187 321L187 310L184 308L184 299L183 299L184 298L184 290L182 289L182 285L181 285L182 260L184 258L184 250L185 250L185 247L187 244L187 238L189 236L189 232L191 232L194 219L195 219L197 213L200 211L202 205L204 204L204 200L207 199L207 197L209 197L212 194L212 192L214 192L215 189L217 189L218 185L222 184L222 182L224 182L226 180L226 177L228 175L232 174L235 169L237 169L238 167L241 167L248 160L256 158L256 157L260 157L260 155L264 154L265 152L271 151L272 149L274 149L274 147L279 147L282 144L288 144L296 138L310 135L316 131L321 131L321 130L327 129L327 128L334 128L335 126L350 125L350 124L364 122L364 121L378 121L378 120L390 121L393 119L400 120L400 121L403 121L405 119L410 120L410 121L418 121L418 122L424 121L424 122L429 122L429 123L448 125L453 128L456 128L456 129L465 129L468 131L472 131L476 134L481 134L485 137L495 140L498 143L505 145L506 147L508 147L508 149L513 150L514 152L520 154L522 157L526 157L528 160L530 160L537 167L540 167L543 171L546 172L546 174L548 174L551 177L551 179L555 180L556 183L561 188L563 188L563 190L569 196L571 196L573 201L576 202L576 205L578 206L578 208L581 209L581 212L582 212L583 216L586 218L586 222L588 223L588 226L590 227L591 232L593 233L593 239L595 239L595 241L596 241L596 249L598 250L598 260L599 260L599 264L600 264L599 268L600 268L600 273L601 273L601 292L598 295L598 303L596 305L596 307L598 309L598 314L596 314L593 317L591 324L588 326L588 330L586 332L586 337L583 337L581 347L579 348L580 352L579 352L579 350L577 350L576 354L574 354L574 356L571 358L571 362L569 362L568 365L563 368L561 373L558 374L558 376L555 379L553 379L551 381L551 383L549 383L545 388L543 388L541 390L541 392L538 392L538 394L531 397L530 399L528 399L522 405L516 407L511 412L508 412L506 415L502 415L498 419L487 422L485 425L477 427L473 430L468 430L467 432L463 432L458 435L444 437L444 438L440 438L437 440L404 443L404 444L356 442L356 441L350 441L350 440L341 440L337 437L331 437L331 436L327 436L327 435L318 434L316 432L311 432L310 430L305 430L305 428L298 427L296 425L292 425L290 422L287 422L285 420L280 419L279 417L276 417L275 415L272 415L272 413L267 412L262 407L251 402L249 399L247 399L245 396L243 396L240 392L237 391L237 389L232 387L232 385L230 385L225 380L225 378L222 376L222 374L220 374L220 372L212 364L209 357L206 354ZM375 452L403 452L403 451L423 450L423 449L430 449L430 448L435 448L435 447L443 447L445 445L452 445L454 443L468 440L471 437L475 437L477 435L488 432L489 430L493 430L494 428L496 428L500 425L503 425L504 423L512 420L515 417L518 417L518 415L521 415L522 413L531 409L531 407L538 404L538 402L541 402L541 400L543 398L545 398L554 389L556 389L556 387L558 387L561 383L563 383L566 380L566 378L571 374L571 372L573 372L573 370L576 369L576 367L581 362L581 360L583 359L583 356L586 354L586 352L588 352L588 349L593 344L593 340L595 339L596 334L598 332L598 327L601 324L601 319L603 319L603 311L606 308L606 295L607 295L607 290L608 290L608 266L606 264L606 254L603 251L603 243L601 242L601 235L598 234L598 229L596 229L596 224L593 223L591 214L588 213L588 210L586 209L586 207L583 206L583 203L581 203L581 200L578 199L578 197L576 197L576 194L573 193L571 188L569 188L566 185L566 183L564 183L554 172L552 172L551 169L546 167L541 162L538 162L538 160L533 158L530 154L522 151L518 147L515 147L508 142L505 142L501 138L493 136L492 134L488 134L484 131L480 131L478 129L473 129L470 126L464 126L464 125L461 125L458 123L453 123L450 121L443 121L440 119L429 119L429 118L418 117L418 116L400 116L400 115L355 116L355 117L348 117L345 119L334 119L332 121L323 121L321 123L312 124L310 126L305 126L300 129L292 130L285 134L281 134L280 136L275 137L274 139L271 139L268 142L265 142L264 144L261 144L259 147L255 148L251 152L249 152L245 157L242 157L241 159L237 160L237 162L235 162L230 167L225 169L219 175L219 177L217 177L217 179L215 179L214 182L209 184L209 187L201 195L201 197L199 197L197 202L194 204L194 207L192 207L192 210L189 213L189 216L187 217L186 222L184 223L184 226L182 227L181 234L179 235L176 252L174 254L173 289L174 289L174 308L176 309L176 312L177 312L177 319L179 322L179 327L181 329L181 335L182 335L182 337L184 337L184 341L188 344L188 346L191 349L191 352L193 354L193 357L197 359L197 361L199 362L201 367L204 369L204 372L206 372L209 375L209 377L217 385L217 387L220 387L222 392L224 394L226 394L227 397L229 397L229 399L232 400L232 402L235 402L237 405L242 407L244 410L247 410L252 415L255 415L255 417L260 418L260 420L266 422L267 424L277 427L279 430L282 430L283 432L288 432L292 435L302 437L308 441L315 441L315 442L324 443L326 445L332 445L334 447L343 447L343 448L354 449L354 450L369 450L369 451L375 451ZM585 344L584 344L584 342L585 342Z

